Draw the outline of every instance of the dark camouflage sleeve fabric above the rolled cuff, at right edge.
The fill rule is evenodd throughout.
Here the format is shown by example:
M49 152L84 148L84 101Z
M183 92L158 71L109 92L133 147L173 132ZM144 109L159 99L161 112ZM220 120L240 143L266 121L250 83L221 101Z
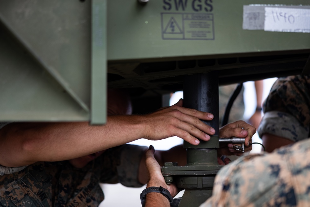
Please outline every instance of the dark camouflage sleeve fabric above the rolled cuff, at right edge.
M263 108L264 113L276 110L293 115L304 128L309 127L310 75L279 78L273 84Z

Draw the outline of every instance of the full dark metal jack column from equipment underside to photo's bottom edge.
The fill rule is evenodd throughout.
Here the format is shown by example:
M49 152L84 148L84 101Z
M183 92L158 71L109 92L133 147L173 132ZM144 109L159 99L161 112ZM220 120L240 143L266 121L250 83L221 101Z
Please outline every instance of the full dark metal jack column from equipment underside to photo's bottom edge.
M184 107L210 112L213 120L203 121L215 129L215 134L205 142L195 146L184 141L187 150L186 167L195 169L202 167L205 175L193 176L193 171L184 170L184 177L179 178L179 187L185 187L185 192L179 207L199 206L212 195L215 173L219 169L217 163L217 148L219 148L219 81L218 72L194 74L184 80ZM209 172L209 173L208 173ZM181 174L181 173L180 173ZM187 175L187 176L186 176Z

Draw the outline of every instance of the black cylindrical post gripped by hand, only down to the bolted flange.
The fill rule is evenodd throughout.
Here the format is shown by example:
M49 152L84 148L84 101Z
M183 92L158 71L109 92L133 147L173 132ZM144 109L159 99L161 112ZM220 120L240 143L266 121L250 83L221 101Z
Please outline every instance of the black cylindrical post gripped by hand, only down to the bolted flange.
M189 75L184 80L184 107L210 112L213 120L203 122L215 129L215 134L207 142L200 140L198 146L184 142L187 148L188 163L216 163L216 148L219 148L219 81L218 72ZM191 152L197 148L199 151ZM209 153L209 156L206 156ZM214 154L214 155L213 155ZM203 160L201 160L203 158ZM197 158L197 161L195 159Z

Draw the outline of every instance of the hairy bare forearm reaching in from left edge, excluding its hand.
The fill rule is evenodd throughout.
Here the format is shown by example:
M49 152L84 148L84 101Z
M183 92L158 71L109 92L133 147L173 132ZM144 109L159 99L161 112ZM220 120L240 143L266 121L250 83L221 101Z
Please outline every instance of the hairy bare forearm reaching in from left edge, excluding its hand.
M139 116L108 116L106 125L13 123L0 130L0 164L23 166L88 155L144 136Z

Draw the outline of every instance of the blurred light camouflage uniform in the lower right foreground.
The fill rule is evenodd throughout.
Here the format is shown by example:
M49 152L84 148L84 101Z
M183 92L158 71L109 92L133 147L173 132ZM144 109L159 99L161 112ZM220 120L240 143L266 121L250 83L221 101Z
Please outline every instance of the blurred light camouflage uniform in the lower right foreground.
M310 205L310 139L224 166L200 207Z

